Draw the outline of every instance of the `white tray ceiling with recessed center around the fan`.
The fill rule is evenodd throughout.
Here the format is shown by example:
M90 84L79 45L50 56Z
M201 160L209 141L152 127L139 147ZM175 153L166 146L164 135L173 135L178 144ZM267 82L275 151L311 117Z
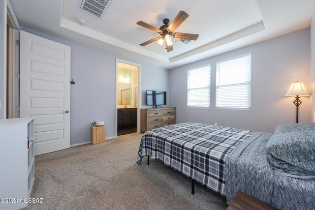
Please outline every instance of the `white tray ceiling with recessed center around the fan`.
M10 0L22 27L117 55L173 68L248 46L309 26L315 0L112 0L101 20L82 11L82 0ZM196 41L166 52L157 42L139 44L183 10L189 14L177 32L198 33ZM77 19L86 24L81 26Z

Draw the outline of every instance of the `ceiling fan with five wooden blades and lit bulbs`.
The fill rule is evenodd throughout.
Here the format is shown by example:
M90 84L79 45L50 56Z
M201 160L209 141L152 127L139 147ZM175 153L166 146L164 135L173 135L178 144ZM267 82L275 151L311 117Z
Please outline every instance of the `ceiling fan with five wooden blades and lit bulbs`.
M157 29L154 26L151 26L143 21L139 21L137 25L142 26L146 29L153 30L154 32L159 33L161 36L155 37L153 39L150 39L146 42L143 42L140 44L141 46L146 46L147 44L150 44L152 42L158 41L158 44L160 46L163 45L164 40L165 40L165 45L166 45L166 50L167 52L170 52L173 50L173 42L171 39L171 36L173 36L176 39L189 39L189 40L197 40L199 34L194 34L194 33L180 33L180 32L175 32L174 31L179 27L185 20L188 18L188 14L184 11L180 11L174 20L169 24L169 19L164 19L163 20L163 26L161 26L159 29Z

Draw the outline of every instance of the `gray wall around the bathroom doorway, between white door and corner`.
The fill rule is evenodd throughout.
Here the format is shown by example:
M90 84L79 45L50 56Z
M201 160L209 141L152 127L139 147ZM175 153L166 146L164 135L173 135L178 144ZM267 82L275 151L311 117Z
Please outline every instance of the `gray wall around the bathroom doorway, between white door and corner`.
M136 60L104 53L47 34L22 28L32 34L71 47L71 131L70 144L90 141L91 123L105 121L106 138L115 136L115 71L116 58L141 65L141 107L146 90L168 91L168 70Z

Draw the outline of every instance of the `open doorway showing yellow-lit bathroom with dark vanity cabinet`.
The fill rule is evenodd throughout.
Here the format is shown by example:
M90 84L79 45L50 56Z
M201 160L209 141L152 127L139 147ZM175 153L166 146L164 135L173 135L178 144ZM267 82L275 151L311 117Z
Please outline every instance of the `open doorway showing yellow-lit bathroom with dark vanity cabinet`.
M116 136L139 131L140 65L116 60Z

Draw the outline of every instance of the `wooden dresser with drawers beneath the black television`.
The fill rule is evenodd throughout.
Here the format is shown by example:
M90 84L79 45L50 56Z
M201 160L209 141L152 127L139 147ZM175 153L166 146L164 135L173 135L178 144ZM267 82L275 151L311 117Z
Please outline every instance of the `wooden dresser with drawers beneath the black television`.
M176 108L151 108L141 109L142 132L158 127L165 127L176 123Z

